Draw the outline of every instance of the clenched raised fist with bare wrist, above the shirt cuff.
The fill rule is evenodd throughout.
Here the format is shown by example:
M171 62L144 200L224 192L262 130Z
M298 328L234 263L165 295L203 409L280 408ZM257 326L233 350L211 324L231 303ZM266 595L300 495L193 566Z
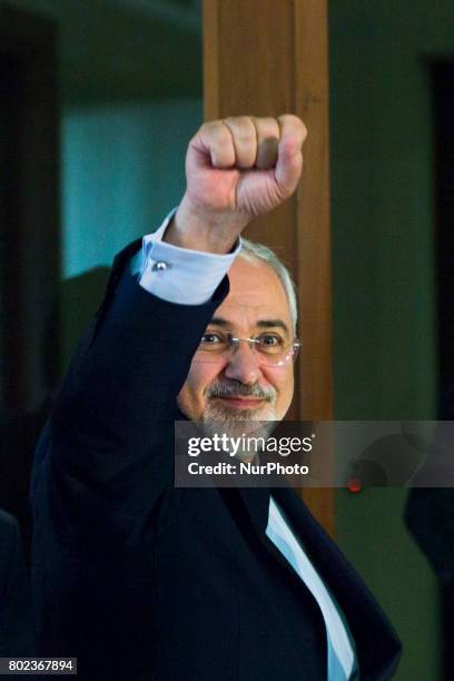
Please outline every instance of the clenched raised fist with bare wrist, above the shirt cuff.
M227 253L246 225L296 189L306 128L296 116L204 124L186 157L187 189L165 239Z

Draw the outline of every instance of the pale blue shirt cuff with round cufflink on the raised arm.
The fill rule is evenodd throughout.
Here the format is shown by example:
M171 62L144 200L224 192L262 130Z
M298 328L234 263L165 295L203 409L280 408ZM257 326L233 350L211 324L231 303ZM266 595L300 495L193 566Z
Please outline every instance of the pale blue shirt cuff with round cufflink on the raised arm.
M203 305L230 269L241 249L241 239L226 255L167 244L162 236L176 210L169 213L157 231L144 237L141 251L132 258L132 273L138 274L142 288L162 300Z

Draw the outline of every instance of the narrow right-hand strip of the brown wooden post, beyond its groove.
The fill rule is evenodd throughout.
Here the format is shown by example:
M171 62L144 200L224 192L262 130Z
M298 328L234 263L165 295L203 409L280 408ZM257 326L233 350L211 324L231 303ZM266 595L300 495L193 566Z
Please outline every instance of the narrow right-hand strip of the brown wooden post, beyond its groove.
M296 112L309 136L296 201L298 294L304 332L302 418L332 418L328 63L325 2L295 2Z

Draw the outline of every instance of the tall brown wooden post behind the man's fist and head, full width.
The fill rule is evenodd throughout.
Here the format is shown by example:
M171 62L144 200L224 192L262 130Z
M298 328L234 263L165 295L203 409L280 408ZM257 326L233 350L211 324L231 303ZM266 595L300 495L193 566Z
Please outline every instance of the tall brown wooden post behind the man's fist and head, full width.
M204 0L206 120L294 112L306 122L304 181L293 199L247 230L289 266L303 353L288 418L332 418L326 0ZM334 532L329 490L304 499Z

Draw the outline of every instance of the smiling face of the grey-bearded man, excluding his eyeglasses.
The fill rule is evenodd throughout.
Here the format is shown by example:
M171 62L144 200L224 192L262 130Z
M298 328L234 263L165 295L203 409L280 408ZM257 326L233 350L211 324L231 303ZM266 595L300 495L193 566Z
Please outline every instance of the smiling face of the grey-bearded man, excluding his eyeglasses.
M276 334L294 339L290 310L280 279L269 265L239 257L228 273L230 293L217 308L207 332L237 338ZM268 366L245 342L228 356L204 358L197 352L178 396L180 411L193 421L280 421L290 406L294 367L289 359Z

